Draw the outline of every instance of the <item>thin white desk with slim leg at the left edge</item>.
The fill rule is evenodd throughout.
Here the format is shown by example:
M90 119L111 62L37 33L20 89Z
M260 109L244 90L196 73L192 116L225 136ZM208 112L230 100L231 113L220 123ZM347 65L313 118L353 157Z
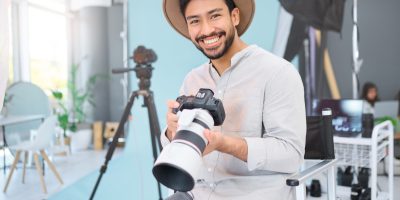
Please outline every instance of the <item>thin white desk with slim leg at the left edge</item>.
M4 174L6 173L6 148L8 147L7 140L6 140L6 126L14 125L14 124L21 124L25 122L44 120L43 115L19 115L19 116L7 116L4 118L0 118L0 126L3 131L3 171Z

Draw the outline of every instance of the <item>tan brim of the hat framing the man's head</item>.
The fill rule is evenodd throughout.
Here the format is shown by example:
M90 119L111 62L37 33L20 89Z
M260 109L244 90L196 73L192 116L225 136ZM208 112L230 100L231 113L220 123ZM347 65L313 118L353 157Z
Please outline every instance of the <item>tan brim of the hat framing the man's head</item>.
M233 0L236 7L239 8L240 22L236 26L238 35L241 36L246 32L253 20L255 12L254 0ZM165 18L171 26L181 35L190 39L189 31L187 29L185 17L182 15L179 0L163 0L163 11Z

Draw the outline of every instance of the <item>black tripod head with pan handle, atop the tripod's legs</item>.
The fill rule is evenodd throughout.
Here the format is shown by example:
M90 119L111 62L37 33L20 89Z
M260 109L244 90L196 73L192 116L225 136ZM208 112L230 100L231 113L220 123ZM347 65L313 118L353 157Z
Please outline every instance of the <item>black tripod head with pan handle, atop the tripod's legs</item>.
M151 63L154 63L157 60L157 55L152 49L146 49L144 46L138 46L130 59L136 63L135 68L113 69L112 73L126 73L129 71L135 71L136 77L139 79L139 89L149 91L151 85L150 79L154 69L151 66Z

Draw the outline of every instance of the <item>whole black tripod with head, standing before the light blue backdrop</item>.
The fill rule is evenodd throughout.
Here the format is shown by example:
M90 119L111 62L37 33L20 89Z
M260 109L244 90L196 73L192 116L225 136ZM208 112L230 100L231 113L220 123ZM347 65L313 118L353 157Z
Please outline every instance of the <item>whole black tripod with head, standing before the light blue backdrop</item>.
M157 118L157 111L156 111L156 107L154 104L153 92L149 89L150 88L150 78L151 78L152 70L153 70L151 63L153 63L157 60L157 56L153 52L153 50L146 49L143 46L139 46L138 48L135 49L134 55L131 58L136 63L135 68L115 69L112 72L113 73L126 73L129 71L135 71L136 77L139 79L139 90L132 92L132 94L129 98L129 101L127 102L127 105L125 106L124 112L122 114L121 120L120 120L118 128L117 128L117 131L116 131L116 133L113 137L113 140L108 148L105 162L100 168L100 174L99 174L99 177L97 178L96 184L93 188L92 194L90 196L90 200L92 200L94 198L94 195L96 194L97 187L99 186L99 183L101 181L103 174L107 170L108 162L111 160L111 157L117 146L118 138L121 136L121 134L123 132L125 122L127 121L128 117L129 117L134 100L135 100L135 98L139 98L139 96L143 96L143 98L144 98L143 106L147 107L147 111L148 111L150 132L151 132L151 146L152 146L152 150L153 150L154 161L158 157L158 152L161 151L161 141L159 139L159 136L161 133L160 124L159 124L158 118ZM159 182L157 183L157 186L158 186L159 199L162 200L161 186L160 186Z

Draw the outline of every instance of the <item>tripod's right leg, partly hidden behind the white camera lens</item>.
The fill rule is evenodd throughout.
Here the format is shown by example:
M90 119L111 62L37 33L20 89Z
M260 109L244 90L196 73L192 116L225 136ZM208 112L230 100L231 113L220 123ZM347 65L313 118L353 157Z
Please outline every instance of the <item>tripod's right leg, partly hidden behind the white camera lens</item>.
M153 99L153 93L149 91L147 95L144 97L145 101L145 106L147 107L148 111L148 116L149 116L149 123L150 123L150 132L151 132L151 145L153 149L153 157L154 157L154 162L156 161L158 157L158 152L161 151L161 141L160 141L160 124L158 122L158 117L157 117L157 111L156 107L154 105L154 99ZM156 143L157 141L157 143ZM158 148L157 148L158 144ZM158 186L158 195L159 199L162 200L162 194L161 194L161 185L159 182L157 182Z

